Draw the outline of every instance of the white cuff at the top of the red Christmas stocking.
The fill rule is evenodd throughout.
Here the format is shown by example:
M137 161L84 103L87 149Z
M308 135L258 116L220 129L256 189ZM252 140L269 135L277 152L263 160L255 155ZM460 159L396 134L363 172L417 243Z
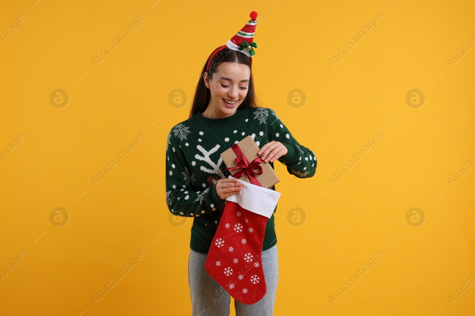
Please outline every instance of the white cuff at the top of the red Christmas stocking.
M228 178L237 179L231 175ZM236 194L228 196L226 200L235 202L241 208L253 213L271 218L280 198L280 193L239 179L237 181L241 182L242 189Z

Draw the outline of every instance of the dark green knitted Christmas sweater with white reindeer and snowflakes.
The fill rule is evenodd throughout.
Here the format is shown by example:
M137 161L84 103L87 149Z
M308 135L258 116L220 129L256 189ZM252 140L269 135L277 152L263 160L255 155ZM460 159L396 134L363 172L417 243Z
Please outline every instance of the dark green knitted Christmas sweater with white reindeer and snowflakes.
M166 204L174 215L193 217L190 248L194 251L208 253L219 224L219 208L226 204L215 187L219 179L231 175L228 170L222 172L228 167L220 153L247 135L259 148L271 141L284 144L288 152L277 160L290 174L297 178L315 174L315 153L295 140L272 108L238 108L230 117L217 119L197 113L173 126L166 147ZM273 162L267 163L274 169ZM269 189L276 190L276 186ZM267 220L262 250L276 243L272 215Z

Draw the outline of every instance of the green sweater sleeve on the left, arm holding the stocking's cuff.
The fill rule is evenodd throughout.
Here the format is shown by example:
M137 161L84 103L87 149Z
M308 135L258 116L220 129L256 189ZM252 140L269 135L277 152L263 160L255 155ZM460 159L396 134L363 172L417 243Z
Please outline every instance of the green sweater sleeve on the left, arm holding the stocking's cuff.
M195 192L194 173L185 159L181 146L171 129L166 149L165 167L166 203L170 212L176 216L203 217L215 209L222 207L225 199L221 199L216 187Z

